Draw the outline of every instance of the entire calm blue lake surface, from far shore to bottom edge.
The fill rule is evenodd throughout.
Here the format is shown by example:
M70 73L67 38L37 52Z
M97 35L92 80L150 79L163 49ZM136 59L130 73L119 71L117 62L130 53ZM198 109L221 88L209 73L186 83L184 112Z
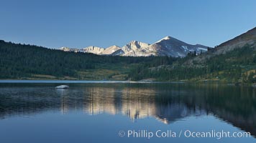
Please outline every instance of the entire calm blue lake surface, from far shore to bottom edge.
M3 143L256 142L250 87L71 81L70 89L55 89L60 83L0 82Z

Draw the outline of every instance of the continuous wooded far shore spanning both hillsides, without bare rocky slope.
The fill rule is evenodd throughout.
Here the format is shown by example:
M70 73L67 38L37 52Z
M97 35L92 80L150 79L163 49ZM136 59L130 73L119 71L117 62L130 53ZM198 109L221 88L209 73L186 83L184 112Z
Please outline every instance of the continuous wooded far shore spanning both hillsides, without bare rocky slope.
M0 79L256 82L254 44L225 54L211 52L185 58L100 56L0 41ZM200 62L200 56L208 58Z

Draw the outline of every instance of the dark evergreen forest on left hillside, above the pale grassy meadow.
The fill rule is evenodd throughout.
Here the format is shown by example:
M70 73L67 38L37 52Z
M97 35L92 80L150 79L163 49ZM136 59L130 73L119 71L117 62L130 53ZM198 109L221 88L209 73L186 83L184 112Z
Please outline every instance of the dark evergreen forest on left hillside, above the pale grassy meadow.
M32 74L78 77L77 71L96 69L97 65L102 64L107 66L120 63L157 66L171 64L173 60L168 56L99 56L0 40L0 79L19 79L31 77Z

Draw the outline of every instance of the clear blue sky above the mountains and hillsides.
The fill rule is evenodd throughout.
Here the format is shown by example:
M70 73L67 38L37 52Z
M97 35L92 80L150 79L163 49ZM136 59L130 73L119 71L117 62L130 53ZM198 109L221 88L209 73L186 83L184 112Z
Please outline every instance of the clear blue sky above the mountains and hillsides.
M106 48L173 36L213 47L254 28L255 7L255 0L1 0L0 39Z

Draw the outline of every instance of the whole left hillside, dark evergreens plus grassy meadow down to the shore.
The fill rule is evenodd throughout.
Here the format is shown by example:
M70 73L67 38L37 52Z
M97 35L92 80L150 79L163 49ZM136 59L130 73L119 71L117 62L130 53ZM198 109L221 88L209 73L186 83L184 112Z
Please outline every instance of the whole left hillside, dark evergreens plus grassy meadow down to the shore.
M0 79L128 79L140 65L172 64L173 58L99 56L0 41Z

